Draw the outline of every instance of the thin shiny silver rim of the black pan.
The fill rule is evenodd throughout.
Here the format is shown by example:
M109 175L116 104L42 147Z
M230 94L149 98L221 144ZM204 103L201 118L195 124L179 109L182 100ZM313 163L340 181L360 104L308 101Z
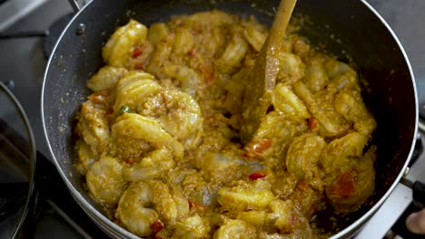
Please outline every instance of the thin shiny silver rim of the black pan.
M59 43L61 42L61 40L64 36L64 33L68 32L68 29L70 28L70 26L72 24L74 24L75 19L77 19L80 14L84 13L85 9L88 8L90 5L92 5L93 2L94 2L94 0L90 0L89 3L84 5L84 7L82 9L80 9L80 11L77 12L74 15L74 17L72 18L72 20L66 25L66 27L64 28L64 31L61 33L58 41L54 44L54 49L53 49L51 55L49 56L49 60L46 64L46 68L44 70L44 80L43 80L43 85L42 85L42 92L41 92L41 116L42 116L42 123L43 123L44 139L47 142L49 152L50 152L50 154L53 158L54 166L56 167L57 171L59 172L59 175L64 180L65 185L71 191L71 194L74 196L74 199L77 201L78 205L81 206L84 209L85 213L87 215L89 215L92 218L92 220L94 220L94 217L97 217L96 219L100 219L101 222L99 222L98 220L94 220L96 225L99 225L108 234L112 234L109 229L114 229L115 232L120 234L119 236L122 235L122 236L125 236L127 238L141 238L141 237L127 231L126 229L124 229L124 227L117 225L114 222L112 222L109 218L107 218L105 215L101 214L97 209L94 208L94 206L92 206L90 203L88 203L84 199L84 196L82 196L81 193L75 189L75 187L72 185L71 181L64 174L64 171L60 167L60 165L59 165L59 163L58 163L58 161L57 161L57 159L54 155L53 148L51 147L50 140L49 140L49 137L47 135L47 129L46 129L45 120L44 120L44 87L45 87L45 81L47 79L47 74L48 74L49 68L51 66L51 62L53 62L53 60L54 60L54 53L55 53ZM387 192L383 196L381 196L380 200L378 202L376 202L375 205L372 206L365 214L361 215L361 217L359 217L355 222L353 222L348 227L341 230L341 232L339 232L337 234L333 234L330 237L331 239L345 238L347 235L353 235L353 234L357 233L358 230L361 228L361 226L366 224L367 221L371 218L371 216L374 215L380 209L380 207L388 199L388 197L390 196L392 191L395 189L395 187L399 185L400 179L403 176L404 171L406 170L406 168L409 165L410 158L411 158L411 156L413 154L413 150L414 150L415 137L418 134L418 121L419 121L418 93L417 93L415 76L414 76L414 73L413 73L412 68L411 68L409 57L408 57L407 53L405 52L402 44L400 43L399 38L393 32L393 30L390 28L390 25L387 24L387 22L383 19L381 14L379 14L369 3L367 3L366 0L361 0L361 4L365 5L367 7L367 9L371 12L371 14L374 14L374 16L380 20L381 24L385 27L385 29L388 31L388 33L390 33L393 41L395 43L397 43L397 46L400 49L400 53L403 55L404 61L406 62L406 65L409 69L410 81L411 81L413 92L414 92L413 97L414 97L414 101L415 101L415 123L414 123L414 130L413 130L413 134L412 134L412 139L410 139L409 155L406 158L406 161L405 161L403 167L400 168L399 175L394 179L394 181L392 182L392 184L389 187L389 189L387 190ZM104 227L105 225L106 225L106 227ZM109 228L107 228L107 226L109 226ZM114 235L116 236L117 234L114 234Z

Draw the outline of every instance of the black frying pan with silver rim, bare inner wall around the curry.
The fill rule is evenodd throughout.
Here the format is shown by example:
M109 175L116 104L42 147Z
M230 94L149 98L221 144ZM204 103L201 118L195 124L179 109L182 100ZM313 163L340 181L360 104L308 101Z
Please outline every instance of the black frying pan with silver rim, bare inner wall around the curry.
M55 166L78 204L107 234L137 238L115 225L84 189L83 177L73 166L73 119L90 93L87 79L103 65L101 50L117 26L129 18L149 25L175 14L193 14L213 8L231 14L253 14L270 26L278 0L93 0L67 25L48 62L42 92L44 134ZM399 40L381 16L365 1L299 0L295 15L304 15L301 35L342 62L355 62L363 85L363 99L378 122L376 188L359 210L338 217L319 215L332 238L355 234L399 183L410 161L417 133L418 102L410 62Z

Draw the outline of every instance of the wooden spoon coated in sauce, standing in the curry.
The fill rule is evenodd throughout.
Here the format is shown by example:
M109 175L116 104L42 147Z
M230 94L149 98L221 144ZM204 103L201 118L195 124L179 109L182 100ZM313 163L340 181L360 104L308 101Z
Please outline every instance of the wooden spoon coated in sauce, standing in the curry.
M272 100L272 90L279 72L278 53L296 2L281 0L269 36L248 76L242 104L241 139L244 144L252 139Z

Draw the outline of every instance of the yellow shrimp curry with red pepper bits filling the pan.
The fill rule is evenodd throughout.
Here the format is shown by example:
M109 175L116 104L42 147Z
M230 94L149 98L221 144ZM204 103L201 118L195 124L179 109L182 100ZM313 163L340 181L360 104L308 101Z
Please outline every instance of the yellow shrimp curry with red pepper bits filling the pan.
M116 224L152 238L317 238L329 235L311 223L318 212L371 196L376 121L359 77L296 31L242 145L243 91L267 33L220 11L116 29L75 127L75 166Z

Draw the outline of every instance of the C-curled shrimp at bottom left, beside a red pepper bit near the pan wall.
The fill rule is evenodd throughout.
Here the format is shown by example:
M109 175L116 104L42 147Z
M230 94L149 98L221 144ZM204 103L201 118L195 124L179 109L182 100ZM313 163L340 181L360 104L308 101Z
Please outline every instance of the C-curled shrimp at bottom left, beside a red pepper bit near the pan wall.
M151 235L151 225L159 218L153 208L148 208L152 201L151 186L143 182L133 183L121 196L115 217L134 234Z

